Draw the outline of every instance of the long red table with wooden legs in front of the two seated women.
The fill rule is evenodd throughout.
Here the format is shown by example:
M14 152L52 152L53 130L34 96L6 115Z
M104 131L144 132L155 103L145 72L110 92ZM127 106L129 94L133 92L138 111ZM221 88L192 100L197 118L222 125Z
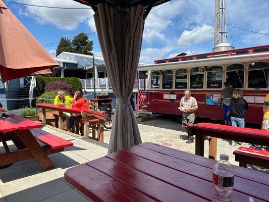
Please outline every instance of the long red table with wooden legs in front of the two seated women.
M82 109L82 108L72 108L64 106L55 106L52 104L36 104L37 107L42 108L42 123L46 123L46 109L59 111L59 128L63 129L64 114L63 112L69 113L81 113L83 115L83 135L89 137L89 120L97 118L99 119L98 127L98 140L103 142L103 120L109 118L93 109Z

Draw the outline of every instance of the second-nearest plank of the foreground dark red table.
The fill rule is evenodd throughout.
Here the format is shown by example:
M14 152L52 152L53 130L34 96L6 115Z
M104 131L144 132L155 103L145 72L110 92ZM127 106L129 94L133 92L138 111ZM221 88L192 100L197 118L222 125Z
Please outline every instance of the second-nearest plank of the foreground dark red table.
M86 165L109 175L110 177L129 185L135 190L159 201L207 201L173 185L167 184L154 177L148 176L133 168L125 166L108 158L100 158Z

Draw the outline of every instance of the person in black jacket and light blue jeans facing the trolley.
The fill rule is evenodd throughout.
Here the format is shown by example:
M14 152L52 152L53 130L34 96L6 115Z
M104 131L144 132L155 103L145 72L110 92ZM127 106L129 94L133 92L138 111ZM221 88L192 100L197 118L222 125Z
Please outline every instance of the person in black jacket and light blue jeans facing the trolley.
M248 105L245 99L243 99L243 91L236 89L231 99L231 122L232 126L245 127L245 115ZM235 141L232 141L232 146L235 146ZM241 143L241 145L247 145Z

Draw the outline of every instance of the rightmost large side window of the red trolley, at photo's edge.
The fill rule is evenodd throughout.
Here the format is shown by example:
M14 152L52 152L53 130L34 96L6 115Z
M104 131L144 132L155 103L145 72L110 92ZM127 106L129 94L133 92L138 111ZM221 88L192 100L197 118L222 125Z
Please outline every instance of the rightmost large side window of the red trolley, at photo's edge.
M248 88L267 88L268 83L267 62L255 62L248 65Z

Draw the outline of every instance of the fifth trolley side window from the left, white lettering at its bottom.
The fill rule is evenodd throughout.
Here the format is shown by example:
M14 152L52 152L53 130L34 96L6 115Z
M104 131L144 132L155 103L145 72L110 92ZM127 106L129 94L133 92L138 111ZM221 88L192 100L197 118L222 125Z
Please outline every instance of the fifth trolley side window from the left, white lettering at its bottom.
M206 88L222 88L222 66L211 66L207 68Z

